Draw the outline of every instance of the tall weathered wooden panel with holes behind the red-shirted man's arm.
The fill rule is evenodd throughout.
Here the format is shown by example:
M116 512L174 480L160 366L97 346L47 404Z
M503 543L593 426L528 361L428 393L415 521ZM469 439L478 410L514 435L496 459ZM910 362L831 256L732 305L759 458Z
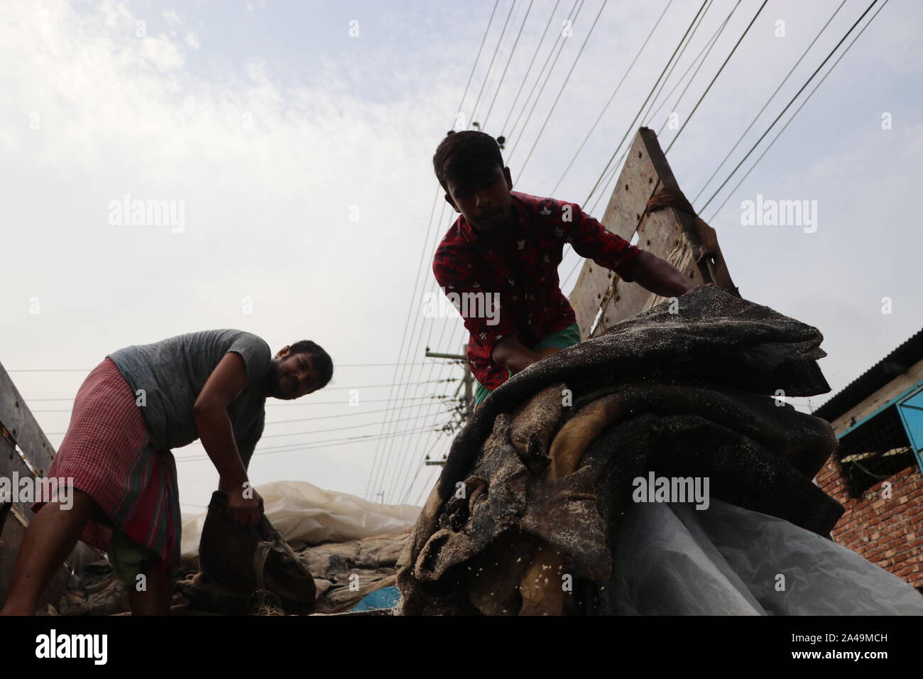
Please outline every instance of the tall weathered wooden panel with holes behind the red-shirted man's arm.
M637 233L635 245L669 261L694 285L714 283L737 292L711 226L676 207L647 211L648 201L662 189L678 192L677 179L657 135L641 127L631 142L602 224L629 242ZM588 339L664 299L587 260L570 294L570 305L577 315L581 338Z

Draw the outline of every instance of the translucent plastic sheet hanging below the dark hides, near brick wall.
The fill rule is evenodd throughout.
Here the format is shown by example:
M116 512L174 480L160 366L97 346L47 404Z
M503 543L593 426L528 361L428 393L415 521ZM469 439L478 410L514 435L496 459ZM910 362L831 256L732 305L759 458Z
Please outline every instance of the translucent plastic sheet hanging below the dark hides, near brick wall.
M904 580L783 519L714 499L705 510L634 504L623 519L623 614L923 614L923 597Z

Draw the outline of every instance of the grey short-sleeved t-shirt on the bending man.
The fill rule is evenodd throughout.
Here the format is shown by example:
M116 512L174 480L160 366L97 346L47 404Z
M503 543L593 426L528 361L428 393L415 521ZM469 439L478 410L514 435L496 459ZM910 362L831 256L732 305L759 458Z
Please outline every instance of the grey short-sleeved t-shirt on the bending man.
M192 407L218 363L229 351L244 358L246 387L228 407L234 440L244 467L253 455L265 422L262 382L270 371L270 346L241 330L180 334L150 345L127 346L110 354L132 391L143 389L141 413L158 449L178 448L198 439Z

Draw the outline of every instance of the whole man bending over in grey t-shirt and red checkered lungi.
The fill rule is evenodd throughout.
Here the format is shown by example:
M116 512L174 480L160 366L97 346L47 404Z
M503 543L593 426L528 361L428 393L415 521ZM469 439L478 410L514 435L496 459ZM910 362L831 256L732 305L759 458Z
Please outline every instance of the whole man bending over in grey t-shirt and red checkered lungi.
M246 468L263 432L267 396L310 394L332 373L330 356L314 342L272 356L266 342L240 330L181 334L110 354L81 385L49 470L72 479L69 506L55 499L32 505L36 515L0 614L34 613L77 540L100 540L97 523L112 527L108 551L118 575L130 585L146 578L145 588L128 588L132 612L169 612L179 508L173 458L160 452L201 440L228 493L229 515L256 524L262 499Z

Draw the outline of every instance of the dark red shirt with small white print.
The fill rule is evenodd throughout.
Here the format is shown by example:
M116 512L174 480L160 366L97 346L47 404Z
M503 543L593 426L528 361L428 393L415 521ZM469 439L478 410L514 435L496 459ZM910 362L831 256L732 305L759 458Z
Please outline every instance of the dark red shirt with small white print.
M508 376L491 358L501 338L516 334L523 345L534 346L576 321L557 278L565 243L629 282L641 253L575 203L510 195L518 218L503 244L492 249L459 215L433 258L443 293L456 309L463 300L462 320L471 333L468 362L491 391ZM492 310L493 301L498 309Z

